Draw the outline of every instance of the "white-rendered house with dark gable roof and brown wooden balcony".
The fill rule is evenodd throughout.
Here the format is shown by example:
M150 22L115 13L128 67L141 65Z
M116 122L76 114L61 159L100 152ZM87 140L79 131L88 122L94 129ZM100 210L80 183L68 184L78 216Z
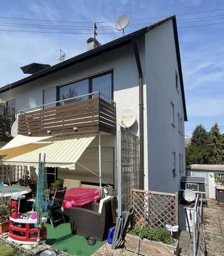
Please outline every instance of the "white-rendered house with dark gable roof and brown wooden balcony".
M94 103L97 97L99 105ZM104 45L97 44L92 50L3 86L0 98L14 101L21 135L100 133L102 184L117 190L120 179L125 179L129 189L133 186L132 174L127 172L133 157L129 155L129 162L125 160L118 139L120 116L125 109L131 109L136 114L136 123L130 134L140 136L140 155L135 155L136 161L140 157L142 171L138 186L178 192L180 177L185 173L187 113L175 16ZM82 104L89 104L98 112L88 116L88 111L80 108ZM76 121L71 122L63 108ZM43 116L48 111L55 113L51 125L46 124ZM99 184L97 177L82 166L98 172L98 143L96 136L82 153L81 165L77 165L75 172L58 167L54 177Z

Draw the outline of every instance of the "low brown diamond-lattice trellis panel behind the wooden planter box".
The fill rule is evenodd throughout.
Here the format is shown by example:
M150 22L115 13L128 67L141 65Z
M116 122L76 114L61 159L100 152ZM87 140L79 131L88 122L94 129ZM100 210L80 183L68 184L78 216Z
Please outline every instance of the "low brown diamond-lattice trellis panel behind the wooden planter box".
M142 222L152 228L166 224L178 225L178 193L164 193L132 189L133 225Z

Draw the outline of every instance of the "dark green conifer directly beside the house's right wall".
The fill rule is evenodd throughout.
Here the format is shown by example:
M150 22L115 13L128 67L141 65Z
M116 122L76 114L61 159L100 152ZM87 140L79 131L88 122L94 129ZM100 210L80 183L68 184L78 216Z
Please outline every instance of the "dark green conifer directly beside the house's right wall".
M193 131L191 144L186 148L186 164L209 164L210 147L209 133L203 125L196 126Z

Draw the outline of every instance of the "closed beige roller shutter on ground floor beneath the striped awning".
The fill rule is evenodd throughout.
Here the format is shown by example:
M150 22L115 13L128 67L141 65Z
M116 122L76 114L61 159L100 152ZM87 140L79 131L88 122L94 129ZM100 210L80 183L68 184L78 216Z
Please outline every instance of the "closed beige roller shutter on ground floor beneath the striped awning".
M78 160L93 172L99 174L99 148L87 148ZM80 165L75 165L75 170L58 168L58 179L78 179L82 182L99 184L99 177L83 169ZM101 170L102 184L114 185L114 147L101 148Z

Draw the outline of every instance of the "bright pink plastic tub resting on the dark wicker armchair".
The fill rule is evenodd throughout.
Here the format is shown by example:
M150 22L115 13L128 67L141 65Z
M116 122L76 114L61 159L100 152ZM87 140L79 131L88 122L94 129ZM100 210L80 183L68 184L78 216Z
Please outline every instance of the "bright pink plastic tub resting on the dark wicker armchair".
M100 191L88 187L73 187L65 193L63 208L80 207L84 204L97 202L100 199Z

